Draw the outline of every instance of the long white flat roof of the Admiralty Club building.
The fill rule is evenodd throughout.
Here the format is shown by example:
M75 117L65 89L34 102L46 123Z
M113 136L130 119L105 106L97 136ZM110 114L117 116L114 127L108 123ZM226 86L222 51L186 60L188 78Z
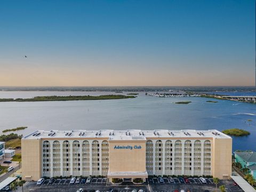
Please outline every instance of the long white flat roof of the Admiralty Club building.
M108 138L109 140L146 140L146 138L231 138L218 130L39 130L22 139L39 138Z

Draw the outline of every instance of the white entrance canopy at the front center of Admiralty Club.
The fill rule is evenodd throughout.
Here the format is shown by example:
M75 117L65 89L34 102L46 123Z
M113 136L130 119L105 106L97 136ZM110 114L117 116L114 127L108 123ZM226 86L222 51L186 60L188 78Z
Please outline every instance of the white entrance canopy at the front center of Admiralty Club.
M148 178L148 172L108 172L108 178Z

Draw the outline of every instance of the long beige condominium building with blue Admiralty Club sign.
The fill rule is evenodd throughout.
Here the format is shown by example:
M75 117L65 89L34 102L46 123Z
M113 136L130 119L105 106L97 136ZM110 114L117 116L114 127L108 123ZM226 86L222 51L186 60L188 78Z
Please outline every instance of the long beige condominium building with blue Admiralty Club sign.
M21 145L26 180L164 174L227 179L231 174L232 139L217 130L36 131L23 137Z

